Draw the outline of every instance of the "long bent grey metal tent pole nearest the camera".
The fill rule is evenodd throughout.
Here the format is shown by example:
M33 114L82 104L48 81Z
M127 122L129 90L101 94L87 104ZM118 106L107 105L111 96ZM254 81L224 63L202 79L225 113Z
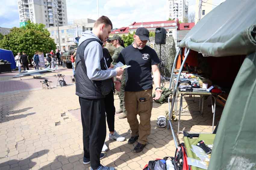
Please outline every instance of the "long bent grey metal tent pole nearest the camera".
M180 66L180 70L179 70L179 74L178 74L178 77L177 77L177 81L176 81L176 84L175 84L175 88L173 90L173 100L172 100L172 107L171 107L171 110L169 110L169 120L168 120L168 126L170 125L170 128L171 128L171 131L172 131L172 135L173 135L173 140L174 140L174 143L175 143L175 146L178 147L178 143L177 143L177 140L176 140L176 137L175 137L175 133L173 131L173 127L172 127L172 123L171 123L171 113L173 113L173 107L174 107L174 103L175 103L175 98L176 98L176 92L177 92L177 87L178 87L178 83L179 83L179 79L180 79L180 75L181 75L181 72L183 70L183 66L185 64L185 61L187 59L187 57L189 56L189 51L190 49L188 49L185 57L184 57L184 60L183 62L181 63L181 66ZM169 127L167 127L169 129Z

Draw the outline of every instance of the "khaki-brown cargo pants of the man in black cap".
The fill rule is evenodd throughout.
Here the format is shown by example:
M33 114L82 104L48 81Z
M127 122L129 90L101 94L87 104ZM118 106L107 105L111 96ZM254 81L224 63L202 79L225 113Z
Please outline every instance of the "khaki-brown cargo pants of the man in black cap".
M138 142L147 143L147 137L150 134L151 110L153 106L152 89L144 91L125 91L125 107L127 111L127 121L131 128L132 137L139 136ZM139 98L145 98L145 102L140 102ZM139 120L137 119L139 114Z

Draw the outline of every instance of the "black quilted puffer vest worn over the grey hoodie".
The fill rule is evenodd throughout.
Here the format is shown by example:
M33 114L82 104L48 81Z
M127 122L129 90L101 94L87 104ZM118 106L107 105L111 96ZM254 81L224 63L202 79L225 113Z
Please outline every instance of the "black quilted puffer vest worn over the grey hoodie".
M105 97L101 94L101 89L97 85L100 81L93 81L88 78L84 60L84 50L92 41L97 41L102 45L102 42L97 39L87 39L82 42L76 50L76 95L87 99L100 99ZM100 61L100 65L101 70L106 70L103 57Z

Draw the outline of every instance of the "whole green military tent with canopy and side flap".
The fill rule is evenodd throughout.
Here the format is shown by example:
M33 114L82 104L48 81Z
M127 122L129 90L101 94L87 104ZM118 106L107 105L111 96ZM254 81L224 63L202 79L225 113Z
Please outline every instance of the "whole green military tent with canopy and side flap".
M216 59L245 56L223 109L209 170L256 169L255 24L255 0L226 0L178 44Z

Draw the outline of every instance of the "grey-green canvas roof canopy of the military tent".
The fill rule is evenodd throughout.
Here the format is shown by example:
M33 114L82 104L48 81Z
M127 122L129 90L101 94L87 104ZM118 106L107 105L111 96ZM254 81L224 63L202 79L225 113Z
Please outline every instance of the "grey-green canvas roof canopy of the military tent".
M226 0L204 16L178 46L213 57L253 53L255 11L255 0Z

